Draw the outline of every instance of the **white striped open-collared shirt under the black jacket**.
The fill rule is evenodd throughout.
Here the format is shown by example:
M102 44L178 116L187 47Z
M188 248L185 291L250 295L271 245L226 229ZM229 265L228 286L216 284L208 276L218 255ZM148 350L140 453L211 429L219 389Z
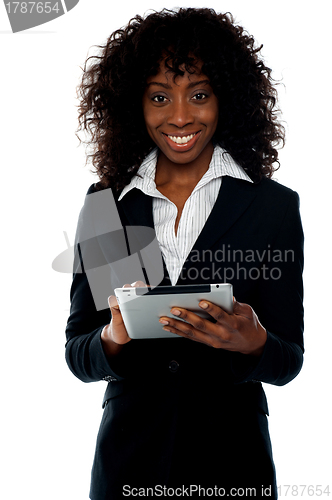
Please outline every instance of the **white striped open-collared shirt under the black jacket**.
M220 146L215 146L209 169L196 184L186 200L175 234L177 207L156 188L155 174L158 149L155 148L144 159L138 174L123 189L121 200L128 191L138 188L144 194L153 197L152 210L156 237L161 253L165 259L167 271L174 286L181 269L195 241L201 233L216 202L221 186L222 176L228 175L237 179L253 182L240 165Z

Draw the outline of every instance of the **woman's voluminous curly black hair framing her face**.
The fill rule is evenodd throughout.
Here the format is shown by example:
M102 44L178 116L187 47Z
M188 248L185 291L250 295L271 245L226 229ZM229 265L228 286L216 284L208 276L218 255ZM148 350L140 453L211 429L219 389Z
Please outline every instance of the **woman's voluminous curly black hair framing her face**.
M121 190L155 147L145 127L142 96L147 78L167 67L175 75L195 70L208 76L219 101L214 142L220 144L259 182L279 168L276 147L284 145L278 121L277 92L255 40L227 12L213 9L163 9L146 18L137 15L108 38L99 55L85 62L77 88L79 127L99 176L98 189ZM93 59L93 63L87 63Z

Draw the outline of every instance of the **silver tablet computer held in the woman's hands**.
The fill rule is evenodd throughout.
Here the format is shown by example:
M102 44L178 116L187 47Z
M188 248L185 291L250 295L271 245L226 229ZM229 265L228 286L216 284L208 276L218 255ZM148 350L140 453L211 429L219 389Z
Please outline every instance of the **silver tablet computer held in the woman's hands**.
M159 323L161 316L172 317L172 307L183 307L203 318L212 319L198 305L202 299L206 299L229 313L233 311L233 287L229 283L128 287L116 288L114 292L126 330L132 339L179 338L179 335L163 330L163 325Z

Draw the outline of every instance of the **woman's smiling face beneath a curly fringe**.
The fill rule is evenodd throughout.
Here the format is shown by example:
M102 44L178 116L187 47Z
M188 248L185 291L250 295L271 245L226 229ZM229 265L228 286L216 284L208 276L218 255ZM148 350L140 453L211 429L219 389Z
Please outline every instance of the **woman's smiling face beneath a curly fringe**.
M147 131L162 153L173 163L190 163L206 148L218 124L218 99L209 79L197 65L193 74L176 76L164 62L157 75L147 80L143 113Z

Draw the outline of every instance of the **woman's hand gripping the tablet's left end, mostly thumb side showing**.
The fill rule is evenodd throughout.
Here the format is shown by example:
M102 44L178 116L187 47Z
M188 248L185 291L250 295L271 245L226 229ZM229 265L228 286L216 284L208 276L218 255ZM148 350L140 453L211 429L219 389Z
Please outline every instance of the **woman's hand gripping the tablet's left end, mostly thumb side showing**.
M135 281L131 285L123 285L122 288L137 286L147 286L143 281ZM109 325L105 326L101 332L101 340L107 356L115 356L122 347L127 344L131 338L129 337L123 318L120 312L118 301L114 295L108 297L108 305L110 306L112 319Z

